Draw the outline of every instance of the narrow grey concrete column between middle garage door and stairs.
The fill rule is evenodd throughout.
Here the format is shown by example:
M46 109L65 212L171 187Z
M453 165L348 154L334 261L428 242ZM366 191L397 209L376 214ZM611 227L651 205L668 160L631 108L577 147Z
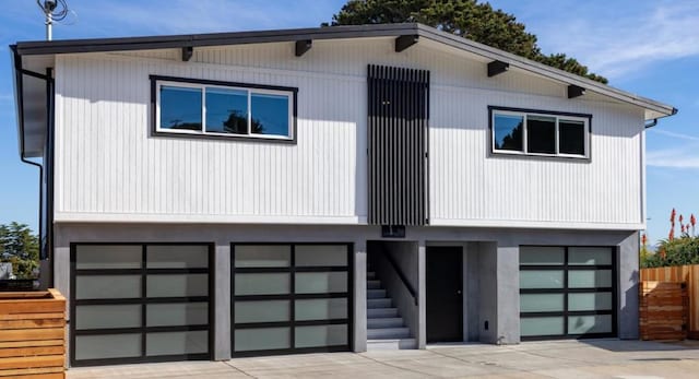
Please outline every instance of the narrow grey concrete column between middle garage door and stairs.
M354 242L354 352L367 351L367 242Z

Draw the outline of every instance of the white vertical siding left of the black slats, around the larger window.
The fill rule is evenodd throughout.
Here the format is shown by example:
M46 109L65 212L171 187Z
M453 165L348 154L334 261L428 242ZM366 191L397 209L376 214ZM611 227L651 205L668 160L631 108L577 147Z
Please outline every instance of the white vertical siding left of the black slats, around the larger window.
M357 223L366 216L364 200L355 198L364 182L355 173L364 128L357 122L366 119L358 116L366 115L362 81L122 59L59 61L58 220L308 216ZM151 137L149 74L299 87L297 144Z

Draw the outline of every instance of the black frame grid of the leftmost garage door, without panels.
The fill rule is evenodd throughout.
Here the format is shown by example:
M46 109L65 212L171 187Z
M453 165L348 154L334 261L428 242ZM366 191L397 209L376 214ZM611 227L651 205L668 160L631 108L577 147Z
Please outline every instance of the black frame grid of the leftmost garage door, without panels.
M76 249L81 245L87 246L141 246L141 268L140 269L76 269ZM209 248L209 264L206 269L147 269L147 247L149 246L206 246ZM139 364L139 363L159 363L176 360L211 360L214 351L214 298L215 277L212 270L214 264L214 244L212 242L71 242L70 244L70 364L73 367L80 366L100 366L115 364ZM162 297L149 298L146 296L147 276L150 275L167 275L167 274L208 274L209 293L208 296L197 297ZM78 275L141 275L141 297L129 299L75 299L75 279ZM146 305L149 304L171 304L171 303L190 303L206 301L209 304L209 324L208 325L183 325L183 327L146 327ZM79 305L141 305L141 327L123 328L123 329L92 329L76 330L75 308ZM187 331L209 331L208 353L202 354L180 354L180 355L146 355L146 335L155 332L187 332ZM99 359L75 359L75 336L78 335L114 335L114 334L141 334L141 356L128 358L99 358Z

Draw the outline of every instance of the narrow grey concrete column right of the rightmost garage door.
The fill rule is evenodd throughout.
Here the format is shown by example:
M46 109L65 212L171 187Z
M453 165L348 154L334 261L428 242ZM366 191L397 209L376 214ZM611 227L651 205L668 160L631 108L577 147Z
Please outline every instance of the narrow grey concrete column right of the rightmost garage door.
M638 340L638 281L639 281L639 237L632 233L619 244L618 268L618 315L619 339Z

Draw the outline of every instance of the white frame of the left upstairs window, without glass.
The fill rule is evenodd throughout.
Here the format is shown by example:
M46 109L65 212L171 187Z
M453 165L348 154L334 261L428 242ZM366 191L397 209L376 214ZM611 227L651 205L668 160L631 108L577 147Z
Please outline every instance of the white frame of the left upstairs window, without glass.
M185 88L198 88L201 90L201 130L187 130L187 129L169 129L161 127L161 88L163 86L170 87L185 87ZM206 88L224 88L224 90L235 90L242 91L248 94L248 133L221 133L221 132L211 132L206 131ZM252 126L252 95L253 94L262 94L262 95L281 95L286 96L288 109L288 134L287 135L279 135L279 134L256 134L251 132ZM236 86L236 85L220 85L220 84L208 84L208 83L191 83L191 82L178 82L178 81L168 81L168 80L156 80L155 81L155 131L157 133L171 133L171 134L189 134L189 135L211 135L211 137L224 137L224 138L244 138L244 139L257 139L257 140L283 140L283 141L293 141L295 139L295 128L294 128L294 102L295 96L292 91L281 91L281 90L268 90L268 88L259 88L254 86Z

